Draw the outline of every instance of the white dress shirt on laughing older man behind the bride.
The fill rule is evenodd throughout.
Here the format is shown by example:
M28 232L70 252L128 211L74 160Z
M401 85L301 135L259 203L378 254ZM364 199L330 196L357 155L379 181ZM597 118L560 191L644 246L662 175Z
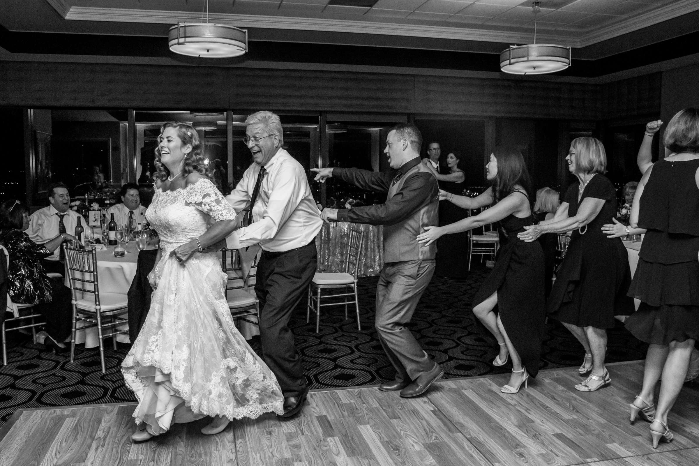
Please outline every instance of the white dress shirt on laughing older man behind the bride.
M227 246L237 249L259 243L265 251L284 252L308 245L323 221L301 163L280 147L265 169L267 173L252 207L254 223L233 231L226 238ZM237 214L250 205L259 171L257 163L252 163L236 189L226 196Z

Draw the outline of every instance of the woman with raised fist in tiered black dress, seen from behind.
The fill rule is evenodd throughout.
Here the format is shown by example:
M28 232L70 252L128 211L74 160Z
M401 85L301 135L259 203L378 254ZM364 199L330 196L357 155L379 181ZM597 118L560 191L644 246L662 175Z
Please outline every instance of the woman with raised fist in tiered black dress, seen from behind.
M630 405L631 421L650 421L653 448L672 440L668 412L675 404L699 338L699 109L677 113L665 130L671 154L644 173L630 225L646 229L628 295L641 301L626 328L649 343L643 387ZM663 379L654 408L654 391Z

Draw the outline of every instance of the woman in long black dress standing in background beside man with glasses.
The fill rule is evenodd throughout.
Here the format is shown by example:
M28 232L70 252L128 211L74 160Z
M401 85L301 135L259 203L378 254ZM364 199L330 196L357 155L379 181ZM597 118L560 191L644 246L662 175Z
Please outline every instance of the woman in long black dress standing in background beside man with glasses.
M433 168L429 159L425 159L425 166L432 170L433 175L440 182L442 191L451 194L461 194L463 192L463 170L459 168L461 154L459 152L449 152L447 155L447 167L449 173L440 175ZM440 191L441 192L441 191ZM468 217L468 210L454 205L448 201L439 203L439 224L453 224L455 221ZM435 275L438 277L466 278L468 277L468 266L466 256L468 255L468 233L456 233L445 236L437 240L437 263L435 264Z

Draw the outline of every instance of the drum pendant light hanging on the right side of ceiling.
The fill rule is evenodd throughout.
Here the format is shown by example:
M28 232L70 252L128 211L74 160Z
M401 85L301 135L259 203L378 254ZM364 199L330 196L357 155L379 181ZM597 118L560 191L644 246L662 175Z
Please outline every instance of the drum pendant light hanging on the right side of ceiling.
M570 66L570 47L536 43L536 14L540 1L533 2L534 43L510 45L500 52L500 70L514 75L542 75L556 73Z

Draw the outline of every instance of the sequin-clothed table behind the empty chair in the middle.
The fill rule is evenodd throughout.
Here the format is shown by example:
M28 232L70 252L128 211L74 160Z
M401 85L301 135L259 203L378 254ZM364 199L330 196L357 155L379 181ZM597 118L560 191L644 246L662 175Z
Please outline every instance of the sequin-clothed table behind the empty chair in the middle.
M364 232L359 262L359 277L379 275L384 266L384 236L383 227L369 224L350 224L345 221L324 223L320 233L315 238L318 248L318 272L344 272L347 259L347 242L349 228L358 226Z

